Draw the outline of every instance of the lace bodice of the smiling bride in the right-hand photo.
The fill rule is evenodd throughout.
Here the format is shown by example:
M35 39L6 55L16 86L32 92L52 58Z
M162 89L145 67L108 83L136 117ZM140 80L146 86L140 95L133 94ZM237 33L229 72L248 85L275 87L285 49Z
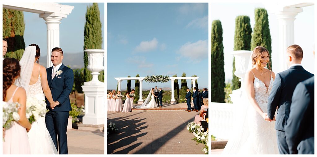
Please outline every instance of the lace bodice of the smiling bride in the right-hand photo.
M268 96L271 93L272 87L273 87L273 77L271 76L270 84L268 85L268 88L265 86L265 83L259 80L256 76L254 76L254 95L256 102L258 104L264 104L268 103Z

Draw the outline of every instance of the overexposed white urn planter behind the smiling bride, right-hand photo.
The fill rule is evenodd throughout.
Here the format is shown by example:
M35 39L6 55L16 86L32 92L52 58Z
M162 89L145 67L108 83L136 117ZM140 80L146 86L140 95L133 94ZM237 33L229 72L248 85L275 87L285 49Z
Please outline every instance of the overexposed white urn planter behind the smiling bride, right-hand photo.
M231 54L235 57L236 71L235 75L239 77L241 82L241 88L233 90L230 94L232 103L239 103L241 100L242 89L244 88L244 75L248 70L249 59L252 51L239 50L233 51Z

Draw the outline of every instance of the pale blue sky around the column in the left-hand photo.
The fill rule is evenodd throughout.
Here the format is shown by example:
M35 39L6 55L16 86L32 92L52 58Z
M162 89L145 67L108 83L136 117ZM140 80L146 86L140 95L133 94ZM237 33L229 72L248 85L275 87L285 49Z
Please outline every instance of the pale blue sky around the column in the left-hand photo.
M84 46L84 26L85 26L85 14L87 6L92 3L60 3L65 5L74 6L72 12L63 18L60 24L60 47L64 53L83 53ZM104 3L98 3L100 10L100 21L102 25L102 49L104 49L105 33L104 33L104 21L105 21L105 5ZM43 18L39 18L39 14L23 12L25 31L24 42L28 46L30 44L37 44L41 48L43 54L47 54L47 30L46 24Z

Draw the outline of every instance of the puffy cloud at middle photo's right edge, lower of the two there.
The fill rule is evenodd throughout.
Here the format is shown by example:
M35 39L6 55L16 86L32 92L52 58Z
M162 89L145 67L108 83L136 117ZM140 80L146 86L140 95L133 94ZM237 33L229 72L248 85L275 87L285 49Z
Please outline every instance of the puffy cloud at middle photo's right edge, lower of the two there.
M200 60L208 58L208 40L198 40L195 43L187 42L180 47L177 53L182 58L200 62Z

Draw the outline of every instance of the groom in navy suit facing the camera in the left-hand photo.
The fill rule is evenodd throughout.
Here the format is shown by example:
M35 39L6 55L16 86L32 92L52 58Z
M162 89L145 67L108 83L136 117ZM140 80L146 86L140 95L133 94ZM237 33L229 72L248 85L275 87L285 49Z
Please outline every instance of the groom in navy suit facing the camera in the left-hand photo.
M74 73L72 69L64 66L63 57L61 48L53 48L51 55L53 66L47 68L46 73L55 105L50 106L45 97L46 107L49 109L45 116L45 123L59 154L68 154L66 131L69 111L72 110L69 94L73 89Z

